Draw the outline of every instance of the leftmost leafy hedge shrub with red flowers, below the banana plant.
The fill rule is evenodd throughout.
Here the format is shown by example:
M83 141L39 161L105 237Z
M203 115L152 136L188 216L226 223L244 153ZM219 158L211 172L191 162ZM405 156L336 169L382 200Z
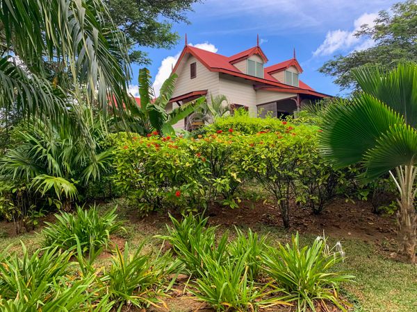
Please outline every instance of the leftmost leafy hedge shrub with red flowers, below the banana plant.
M206 177L206 165L190 153L190 140L154 135L117 142L115 183L133 196L142 214L204 204L201 178Z

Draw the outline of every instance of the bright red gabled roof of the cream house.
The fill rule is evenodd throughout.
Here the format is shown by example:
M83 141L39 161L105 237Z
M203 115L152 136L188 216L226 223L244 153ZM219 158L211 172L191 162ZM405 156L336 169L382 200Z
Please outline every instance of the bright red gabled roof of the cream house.
M256 47L257 48L257 47ZM249 50L243 51L241 53L232 55L231 57L227 57L218 53L213 53L210 51L206 51L203 49L196 48L195 46L189 46L186 45L181 52L181 55L179 55L179 59L177 60L177 64L175 64L174 68L172 69L172 72L174 73L177 71L179 64L181 64L181 60L183 57L189 53L190 55L193 55L199 62L201 62L209 71L215 71L220 73L227 73L231 76L244 78L247 80L251 80L254 82L254 85L256 85L257 88L260 89L266 89L268 88L268 91L276 91L276 92L292 92L292 93L300 93L300 94L311 94L319 97L328 97L327 94L322 94L320 92L316 92L314 89L309 87L309 85L306 85L300 80L299 87L293 87L291 85L286 85L285 83L279 82L277 79L271 76L271 72L273 73L278 68L288 68L290 66L300 67L300 72L302 71L300 64L298 64L297 60L291 59L286 62L281 62L279 64L272 65L270 67L266 67L264 69L264 76L263 78L259 78L256 76L250 76L246 73L243 73L236 67L234 67L233 64L231 64L231 59L238 60L242 57L245 58L247 53L252 53L252 50L254 48L251 48ZM260 49L260 48L259 48ZM238 57L238 58L236 58ZM285 63L285 66L283 67L283 64ZM279 65L279 66L278 66ZM296 66L297 65L297 66ZM271 88L269 88L271 87Z

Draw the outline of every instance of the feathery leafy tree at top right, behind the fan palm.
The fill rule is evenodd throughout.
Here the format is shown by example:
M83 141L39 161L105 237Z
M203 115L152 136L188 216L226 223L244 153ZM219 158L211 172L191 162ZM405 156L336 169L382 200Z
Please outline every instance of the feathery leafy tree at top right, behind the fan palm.
M346 56L336 55L319 69L334 77L334 82L345 90L359 87L352 69L363 65L393 69L400 62L417 62L416 0L396 3L391 10L379 12L375 26L365 24L355 35L374 40L375 46Z

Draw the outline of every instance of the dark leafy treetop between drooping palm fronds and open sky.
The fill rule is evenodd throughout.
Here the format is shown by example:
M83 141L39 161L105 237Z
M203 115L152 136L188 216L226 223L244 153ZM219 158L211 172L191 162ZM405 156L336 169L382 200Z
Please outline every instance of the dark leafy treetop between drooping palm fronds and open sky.
M105 0L115 24L126 35L132 62L149 63L141 47L170 49L179 35L172 22L186 22L186 12L201 0Z

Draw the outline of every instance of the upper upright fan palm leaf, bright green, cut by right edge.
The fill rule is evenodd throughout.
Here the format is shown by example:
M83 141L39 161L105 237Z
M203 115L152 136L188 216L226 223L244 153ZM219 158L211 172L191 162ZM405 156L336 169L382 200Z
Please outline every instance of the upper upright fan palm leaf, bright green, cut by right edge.
M389 72L363 67L353 72L359 86L404 116L407 124L417 125L417 66L400 64Z

